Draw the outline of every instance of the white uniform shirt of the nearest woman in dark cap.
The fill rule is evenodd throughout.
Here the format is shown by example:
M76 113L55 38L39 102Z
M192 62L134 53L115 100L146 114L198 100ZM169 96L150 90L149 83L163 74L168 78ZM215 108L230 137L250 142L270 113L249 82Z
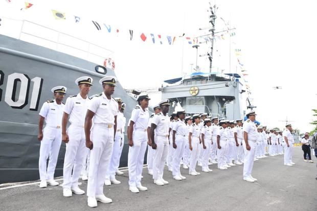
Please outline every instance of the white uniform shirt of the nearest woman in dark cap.
M146 130L149 123L149 111L148 109L143 109L140 107L138 109L133 109L131 114L131 121L134 122L133 129Z

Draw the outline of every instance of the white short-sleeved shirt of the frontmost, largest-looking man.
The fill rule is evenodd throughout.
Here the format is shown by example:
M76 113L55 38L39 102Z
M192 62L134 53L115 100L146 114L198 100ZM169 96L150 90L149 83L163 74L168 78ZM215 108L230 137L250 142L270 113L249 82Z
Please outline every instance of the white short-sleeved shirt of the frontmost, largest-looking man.
M111 97L108 99L104 92L101 96L90 100L88 110L95 113L94 124L115 125L115 116L118 115L118 102Z

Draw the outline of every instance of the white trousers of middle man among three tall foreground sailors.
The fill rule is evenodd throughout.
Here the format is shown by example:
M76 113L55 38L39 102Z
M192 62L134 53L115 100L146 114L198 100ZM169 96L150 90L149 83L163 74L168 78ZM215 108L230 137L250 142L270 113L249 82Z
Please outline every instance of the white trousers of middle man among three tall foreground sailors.
M70 189L78 186L78 179L88 148L86 147L85 131L82 126L71 124L67 129L67 135L69 136L69 142L66 143L64 158L63 188Z

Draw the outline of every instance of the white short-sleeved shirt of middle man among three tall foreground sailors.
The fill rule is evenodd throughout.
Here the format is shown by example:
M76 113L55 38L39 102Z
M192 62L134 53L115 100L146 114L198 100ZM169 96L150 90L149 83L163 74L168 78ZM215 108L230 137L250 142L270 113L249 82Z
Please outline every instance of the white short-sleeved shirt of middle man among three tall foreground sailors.
M83 99L80 93L66 99L64 112L70 115L70 122L72 124L84 126L89 101L89 97Z

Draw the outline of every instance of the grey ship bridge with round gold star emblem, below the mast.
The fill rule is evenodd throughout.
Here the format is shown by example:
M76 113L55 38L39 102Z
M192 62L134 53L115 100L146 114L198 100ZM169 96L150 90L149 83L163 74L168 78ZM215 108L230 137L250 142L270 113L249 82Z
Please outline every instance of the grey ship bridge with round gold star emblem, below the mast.
M170 99L173 112L176 105L189 114L219 114L227 119L240 119L243 111L243 84L237 73L195 72L164 81L162 98ZM245 107L246 108L246 107Z

